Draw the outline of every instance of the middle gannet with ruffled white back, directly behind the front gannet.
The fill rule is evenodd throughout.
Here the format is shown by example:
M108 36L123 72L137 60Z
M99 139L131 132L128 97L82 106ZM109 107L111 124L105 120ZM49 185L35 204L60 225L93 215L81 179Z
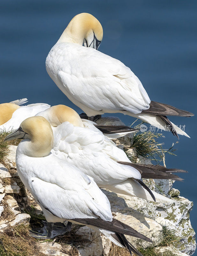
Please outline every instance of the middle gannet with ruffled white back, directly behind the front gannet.
M98 187L153 202L155 199L162 203L173 202L151 191L141 178L182 180L171 172L186 171L131 163L125 152L106 138L93 122L83 122L77 112L67 106L53 106L37 115L45 117L52 125L55 141L51 152L91 176Z

